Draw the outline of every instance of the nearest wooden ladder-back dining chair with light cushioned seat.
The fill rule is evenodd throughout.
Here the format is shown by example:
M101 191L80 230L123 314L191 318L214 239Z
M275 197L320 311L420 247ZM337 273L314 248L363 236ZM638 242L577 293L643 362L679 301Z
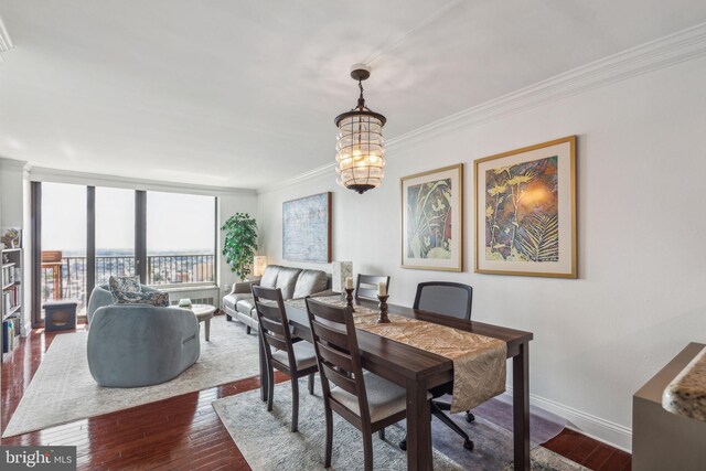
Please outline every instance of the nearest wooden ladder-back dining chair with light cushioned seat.
M307 298L307 312L325 408L324 464L327 468L331 465L332 411L335 411L361 430L365 470L370 471L373 469L372 433L377 431L379 438L384 439L385 427L405 418L406 392L373 373L363 373L351 308L339 308Z

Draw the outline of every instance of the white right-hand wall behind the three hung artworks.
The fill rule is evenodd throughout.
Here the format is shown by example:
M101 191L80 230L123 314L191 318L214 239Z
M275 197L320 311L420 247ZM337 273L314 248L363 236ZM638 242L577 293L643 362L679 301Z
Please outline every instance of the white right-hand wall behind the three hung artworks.
M706 342L705 83L706 58L695 58L417 136L388 148L383 186L363 195L338 188L333 171L265 190L261 251L296 265L281 260L281 203L333 191L335 260L391 275L398 304L411 304L420 281L472 285L473 319L534 332L535 403L630 448L633 392L687 342ZM384 111L395 119L394 109ZM473 160L569 135L578 135L579 279L473 274ZM458 162L466 165L466 271L400 268L399 178Z

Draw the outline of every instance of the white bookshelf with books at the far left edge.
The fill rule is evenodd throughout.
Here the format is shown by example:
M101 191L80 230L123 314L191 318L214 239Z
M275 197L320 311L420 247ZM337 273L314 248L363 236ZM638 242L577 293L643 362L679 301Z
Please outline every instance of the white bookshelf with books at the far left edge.
M2 343L2 361L7 361L12 351L19 344L20 329L22 325L22 249L6 248L0 250L0 312L2 313L2 330L0 340Z

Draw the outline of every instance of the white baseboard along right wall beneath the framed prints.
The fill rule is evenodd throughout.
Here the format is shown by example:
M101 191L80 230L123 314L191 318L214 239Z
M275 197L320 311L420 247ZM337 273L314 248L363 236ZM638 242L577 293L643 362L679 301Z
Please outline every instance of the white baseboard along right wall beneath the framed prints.
M507 386L506 389L500 398L512 402L512 387ZM567 427L571 430L579 431L587 437L627 452L631 452L632 450L631 428L537 396L536 394L530 394L530 404L566 419L568 421Z

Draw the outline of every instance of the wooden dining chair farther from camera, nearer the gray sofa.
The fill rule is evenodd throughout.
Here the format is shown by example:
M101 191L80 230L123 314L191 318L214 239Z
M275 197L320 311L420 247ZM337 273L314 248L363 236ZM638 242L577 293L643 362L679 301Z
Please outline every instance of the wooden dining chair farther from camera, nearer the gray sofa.
M269 390L267 411L272 410L275 390L275 368L284 372L291 381L291 431L299 427L299 378L309 376L309 394L313 394L317 354L309 342L292 343L289 321L285 311L285 301L279 288L252 286L253 299L257 310L260 344L267 365ZM272 349L275 349L272 351Z

